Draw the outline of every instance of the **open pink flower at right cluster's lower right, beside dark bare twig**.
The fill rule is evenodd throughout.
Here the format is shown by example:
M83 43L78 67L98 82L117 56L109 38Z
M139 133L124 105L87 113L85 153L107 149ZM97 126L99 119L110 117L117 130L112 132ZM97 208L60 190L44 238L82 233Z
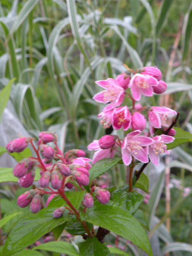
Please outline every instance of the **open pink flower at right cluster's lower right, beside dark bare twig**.
M167 151L167 145L164 143L170 143L175 140L172 136L168 135L160 135L160 136L155 136L152 138L154 141L150 146L149 146L149 159L154 163L154 165L159 165L159 160L160 160L160 153L167 153L169 154L169 151Z

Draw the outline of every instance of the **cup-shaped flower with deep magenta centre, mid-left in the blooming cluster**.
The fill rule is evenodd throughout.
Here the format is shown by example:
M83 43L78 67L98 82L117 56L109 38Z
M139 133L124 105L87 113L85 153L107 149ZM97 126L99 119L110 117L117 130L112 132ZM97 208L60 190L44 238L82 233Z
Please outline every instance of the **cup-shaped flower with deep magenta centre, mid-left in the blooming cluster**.
M124 131L128 130L131 125L131 113L127 106L114 108L111 120L115 130L119 130L121 127Z

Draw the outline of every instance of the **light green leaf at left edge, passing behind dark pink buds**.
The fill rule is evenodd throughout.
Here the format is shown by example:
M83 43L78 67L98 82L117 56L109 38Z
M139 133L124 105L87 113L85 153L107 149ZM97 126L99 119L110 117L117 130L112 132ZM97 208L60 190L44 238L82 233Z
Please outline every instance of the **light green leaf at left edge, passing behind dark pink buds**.
M18 178L15 177L12 173L13 168L0 168L0 183L1 182L17 182ZM37 181L40 179L39 169L35 170L35 179Z

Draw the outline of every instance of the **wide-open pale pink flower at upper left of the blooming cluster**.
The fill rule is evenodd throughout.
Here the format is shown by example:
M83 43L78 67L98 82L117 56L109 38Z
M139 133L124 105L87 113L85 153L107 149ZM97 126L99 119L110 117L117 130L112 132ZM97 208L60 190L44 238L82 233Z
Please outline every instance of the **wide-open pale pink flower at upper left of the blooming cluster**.
M93 99L95 101L100 103L112 102L112 104L110 104L110 107L112 108L121 105L124 100L125 92L124 89L119 85L119 83L117 83L113 78L96 81L95 83L106 89L94 95Z

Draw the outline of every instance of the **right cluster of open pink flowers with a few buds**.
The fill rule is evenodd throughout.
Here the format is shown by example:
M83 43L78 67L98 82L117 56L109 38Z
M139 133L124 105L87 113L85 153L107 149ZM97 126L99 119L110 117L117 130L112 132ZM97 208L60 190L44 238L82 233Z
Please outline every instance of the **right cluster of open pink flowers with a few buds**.
M99 103L109 103L98 115L101 124L104 128L113 126L114 130L123 128L124 131L128 129L130 131L123 139L115 135L106 135L89 144L88 150L96 151L93 164L103 158L114 157L119 147L126 166L134 160L142 163L151 160L158 166L159 155L169 154L166 144L174 141L175 130L170 129L166 132L169 127L167 122L170 116L177 115L177 112L166 107L136 104L136 101L141 100L142 95L152 96L153 93L161 94L166 90L167 85L161 80L161 71L157 67L147 66L132 73L132 77L123 73L116 79L96 81L96 84L105 90L94 95L93 99ZM131 106L124 104L125 97L131 99ZM148 123L149 127L147 127ZM155 136L156 129L160 129L162 135Z

